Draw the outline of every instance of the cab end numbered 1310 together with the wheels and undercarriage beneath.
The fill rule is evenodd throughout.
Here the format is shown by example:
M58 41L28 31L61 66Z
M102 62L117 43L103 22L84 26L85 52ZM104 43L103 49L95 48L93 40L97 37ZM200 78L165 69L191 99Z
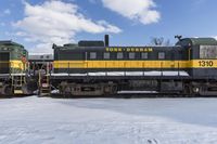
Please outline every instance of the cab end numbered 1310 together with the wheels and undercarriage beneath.
M177 44L188 50L191 93L217 95L217 41L213 38L181 39Z

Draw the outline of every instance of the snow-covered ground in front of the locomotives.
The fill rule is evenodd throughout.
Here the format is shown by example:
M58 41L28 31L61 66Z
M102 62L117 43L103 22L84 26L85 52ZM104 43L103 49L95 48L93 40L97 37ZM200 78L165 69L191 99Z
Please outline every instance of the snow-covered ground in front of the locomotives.
M2 99L0 143L216 144L217 99Z

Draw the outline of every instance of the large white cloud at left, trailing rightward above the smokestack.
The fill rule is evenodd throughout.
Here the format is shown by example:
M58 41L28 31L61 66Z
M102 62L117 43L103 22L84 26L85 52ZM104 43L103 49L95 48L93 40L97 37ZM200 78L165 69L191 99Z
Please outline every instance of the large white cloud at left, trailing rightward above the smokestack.
M18 35L26 41L38 42L34 51L51 51L51 44L64 44L74 41L77 32L114 32L120 28L105 21L93 22L85 17L78 5L62 1L46 1L42 4L30 5L25 2L25 17L13 25L22 29Z

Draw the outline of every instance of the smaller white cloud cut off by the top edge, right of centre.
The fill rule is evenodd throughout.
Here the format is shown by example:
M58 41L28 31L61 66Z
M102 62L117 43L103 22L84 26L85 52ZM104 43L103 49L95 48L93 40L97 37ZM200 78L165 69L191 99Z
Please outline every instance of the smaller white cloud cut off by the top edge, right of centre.
M102 0L105 8L129 18L146 25L157 23L161 18L158 11L153 10L153 0Z

